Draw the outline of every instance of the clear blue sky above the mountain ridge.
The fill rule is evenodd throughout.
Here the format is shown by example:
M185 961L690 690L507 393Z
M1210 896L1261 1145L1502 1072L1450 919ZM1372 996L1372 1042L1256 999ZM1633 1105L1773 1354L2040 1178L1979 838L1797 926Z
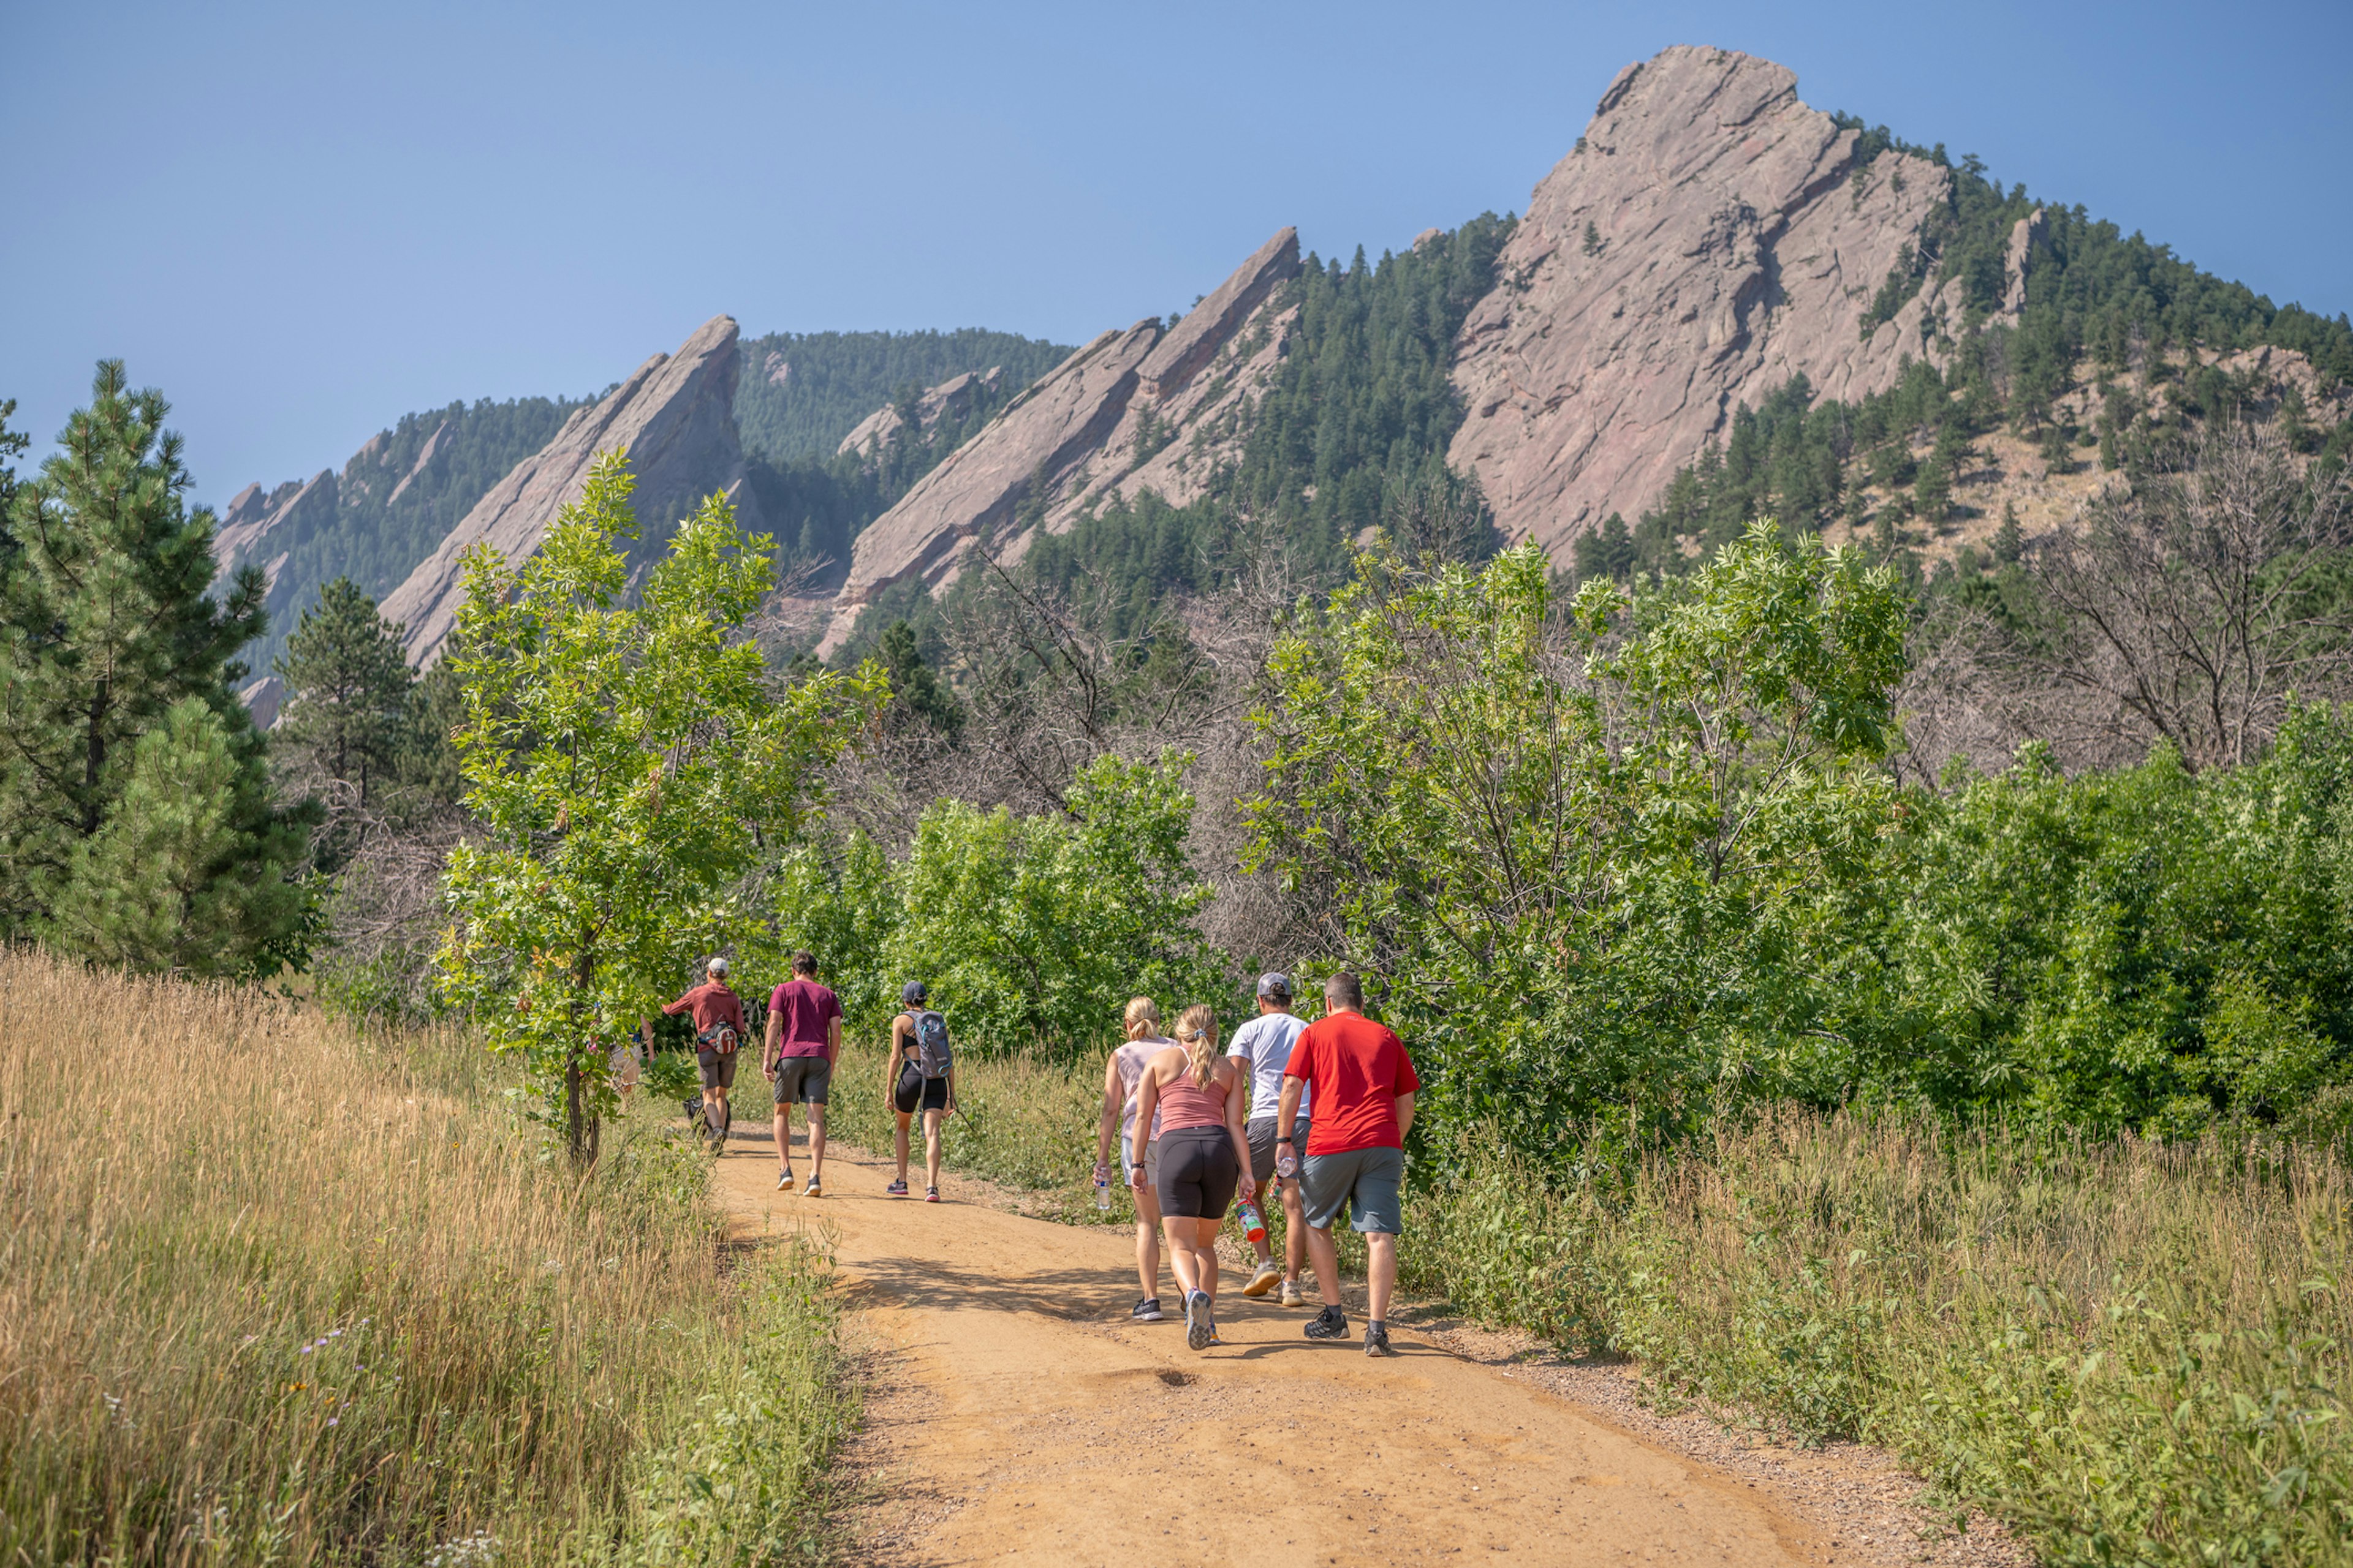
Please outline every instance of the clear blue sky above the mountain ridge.
M748 334L1179 310L1518 209L1619 66L1791 66L2275 301L2353 310L2353 5L26 5L0 0L0 397L99 357L198 496L407 409Z

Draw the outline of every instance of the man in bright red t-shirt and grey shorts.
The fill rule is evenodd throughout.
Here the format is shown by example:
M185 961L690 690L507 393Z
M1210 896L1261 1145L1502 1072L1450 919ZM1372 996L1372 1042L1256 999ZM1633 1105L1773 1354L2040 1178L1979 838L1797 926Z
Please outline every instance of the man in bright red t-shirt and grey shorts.
M1325 1016L1306 1027L1282 1070L1278 1128L1292 1126L1299 1095L1315 1086L1315 1121L1299 1159L1306 1199L1308 1260L1322 1288L1325 1309L1308 1324L1311 1340L1346 1340L1348 1314L1339 1295L1339 1248L1332 1220L1346 1206L1365 1237L1365 1354L1386 1356L1388 1298L1398 1288L1398 1234L1405 1211L1405 1133L1414 1126L1414 1093L1421 1079L1405 1056L1405 1041L1365 1018L1365 985L1351 973L1325 980ZM1280 1159L1289 1138L1275 1143ZM1280 1166L1278 1166L1280 1168Z

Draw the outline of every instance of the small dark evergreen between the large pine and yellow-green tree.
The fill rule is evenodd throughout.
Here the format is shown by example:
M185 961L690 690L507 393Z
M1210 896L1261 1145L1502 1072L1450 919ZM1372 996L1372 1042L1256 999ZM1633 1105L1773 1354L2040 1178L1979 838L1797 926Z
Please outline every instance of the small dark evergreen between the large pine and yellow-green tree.
M414 677L398 628L358 583L336 578L301 614L278 675L287 684L280 745L369 809L409 741Z

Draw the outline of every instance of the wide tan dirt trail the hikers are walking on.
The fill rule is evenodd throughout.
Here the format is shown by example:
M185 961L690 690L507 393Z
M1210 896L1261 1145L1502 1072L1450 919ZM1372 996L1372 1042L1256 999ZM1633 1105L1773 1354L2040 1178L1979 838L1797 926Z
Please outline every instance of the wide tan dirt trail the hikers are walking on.
M805 1150L793 1164L807 1180ZM1409 1331L1388 1361L1311 1342L1308 1312L1245 1300L1231 1272L1226 1342L1193 1354L1181 1321L1127 1321L1125 1232L892 1199L889 1175L828 1150L824 1199L774 1192L765 1140L718 1173L746 1237L835 1229L887 1347L866 1439L889 1516L866 1542L875 1559L1854 1561L1751 1481Z

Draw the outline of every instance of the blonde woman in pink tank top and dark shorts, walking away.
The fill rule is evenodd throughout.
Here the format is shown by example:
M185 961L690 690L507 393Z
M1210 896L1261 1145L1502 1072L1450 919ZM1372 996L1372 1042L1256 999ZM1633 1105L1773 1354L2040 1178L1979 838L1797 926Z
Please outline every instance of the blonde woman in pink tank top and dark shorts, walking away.
M1153 1180L1169 1232L1169 1272L1184 1291L1184 1342L1217 1345L1217 1232L1233 1190L1257 1192L1249 1178L1249 1138L1242 1103L1249 1074L1217 1053L1217 1013L1193 1004L1176 1018L1176 1044L1155 1051L1136 1079L1136 1119L1160 1126L1160 1173ZM1144 1187L1146 1166L1132 1161L1127 1182Z

